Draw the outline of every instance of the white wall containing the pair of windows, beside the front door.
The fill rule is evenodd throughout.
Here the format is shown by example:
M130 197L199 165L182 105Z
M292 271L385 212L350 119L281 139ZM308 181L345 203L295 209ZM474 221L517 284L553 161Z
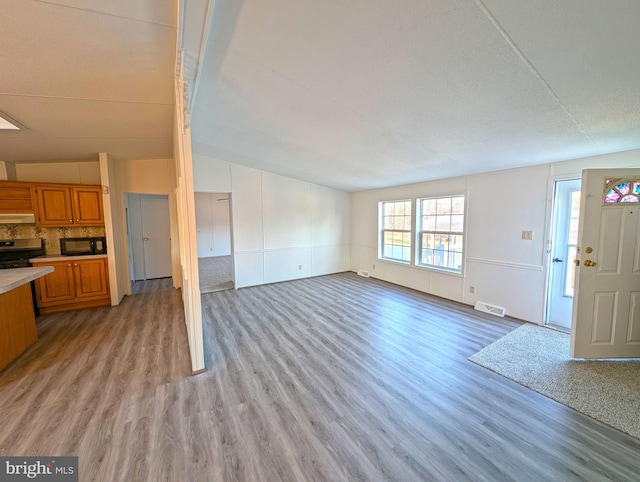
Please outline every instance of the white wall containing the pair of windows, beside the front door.
M553 181L588 168L633 166L640 166L640 150L353 193L351 269L462 303L504 306L510 316L543 323ZM467 195L463 275L377 258L379 201L459 193ZM534 239L522 240L523 230Z

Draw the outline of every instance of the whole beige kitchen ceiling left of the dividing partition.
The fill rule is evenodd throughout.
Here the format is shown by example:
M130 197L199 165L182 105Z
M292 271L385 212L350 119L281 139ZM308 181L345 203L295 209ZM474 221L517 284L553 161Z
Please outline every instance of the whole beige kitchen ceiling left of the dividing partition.
M176 0L0 0L0 161L173 155Z

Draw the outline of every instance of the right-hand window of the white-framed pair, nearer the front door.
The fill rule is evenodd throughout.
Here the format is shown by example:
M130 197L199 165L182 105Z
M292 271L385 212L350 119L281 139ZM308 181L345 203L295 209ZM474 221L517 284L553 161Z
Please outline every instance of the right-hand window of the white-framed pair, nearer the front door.
M462 272L464 195L418 199L416 264Z

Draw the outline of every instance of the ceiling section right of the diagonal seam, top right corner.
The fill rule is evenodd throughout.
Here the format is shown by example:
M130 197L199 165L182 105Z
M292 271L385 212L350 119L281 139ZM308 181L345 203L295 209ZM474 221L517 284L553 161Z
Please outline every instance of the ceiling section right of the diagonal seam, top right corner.
M638 132L640 2L485 3L596 144Z

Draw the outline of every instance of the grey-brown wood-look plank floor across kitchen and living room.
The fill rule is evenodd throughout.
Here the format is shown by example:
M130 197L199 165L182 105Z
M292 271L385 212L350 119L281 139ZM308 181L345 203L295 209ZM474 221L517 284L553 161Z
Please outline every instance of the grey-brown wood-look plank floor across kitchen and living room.
M467 360L520 323L352 273L41 317L0 372L0 455L82 481L638 480L640 441Z

